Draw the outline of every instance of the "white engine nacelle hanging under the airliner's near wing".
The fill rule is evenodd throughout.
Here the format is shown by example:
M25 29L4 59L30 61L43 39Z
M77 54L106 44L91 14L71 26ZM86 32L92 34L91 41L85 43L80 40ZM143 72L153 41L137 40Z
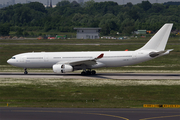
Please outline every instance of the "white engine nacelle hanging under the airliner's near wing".
M53 71L55 73L66 73L66 72L72 72L73 67L71 65L67 64L55 64L53 65Z

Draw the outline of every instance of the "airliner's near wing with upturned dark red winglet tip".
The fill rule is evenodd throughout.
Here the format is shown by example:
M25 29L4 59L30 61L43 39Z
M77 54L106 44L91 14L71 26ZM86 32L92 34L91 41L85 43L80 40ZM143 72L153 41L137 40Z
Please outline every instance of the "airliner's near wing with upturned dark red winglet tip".
M98 59L101 59L103 58L104 54L100 54L98 57L96 58L93 58L93 59L87 59L87 60L80 60L80 61L64 61L63 63L62 62L58 62L58 64L69 64L71 66L76 66L76 65L87 65L87 66L91 66L91 65L95 65L97 64L96 61Z

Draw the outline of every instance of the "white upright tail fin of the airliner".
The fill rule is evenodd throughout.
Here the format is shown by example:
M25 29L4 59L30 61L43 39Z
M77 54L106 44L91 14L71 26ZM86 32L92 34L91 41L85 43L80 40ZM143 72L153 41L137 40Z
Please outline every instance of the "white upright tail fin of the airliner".
M164 51L173 24L167 23L140 49L138 50L157 50Z

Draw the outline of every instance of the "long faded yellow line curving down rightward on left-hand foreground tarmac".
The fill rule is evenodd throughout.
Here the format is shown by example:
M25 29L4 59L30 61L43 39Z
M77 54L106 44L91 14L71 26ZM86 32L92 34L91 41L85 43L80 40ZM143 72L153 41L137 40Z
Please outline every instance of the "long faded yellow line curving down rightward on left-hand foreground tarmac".
M114 118L120 118L123 120L129 120L128 118L121 117L121 116L116 116L116 115L109 115L109 114L101 114L101 113L85 113L85 112L68 112L68 111L34 111L34 110L12 110L13 112L51 112L51 113L74 113L74 114L91 114L91 115L100 115L100 116L107 116L107 117L114 117Z

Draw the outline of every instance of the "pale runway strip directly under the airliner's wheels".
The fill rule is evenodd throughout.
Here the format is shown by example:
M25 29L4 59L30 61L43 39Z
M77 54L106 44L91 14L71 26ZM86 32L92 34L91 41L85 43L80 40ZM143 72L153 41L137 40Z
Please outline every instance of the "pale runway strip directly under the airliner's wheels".
M0 78L63 78L63 79L180 79L180 73L98 73L96 75L83 76L80 73L54 74L54 73L29 73L0 72Z

